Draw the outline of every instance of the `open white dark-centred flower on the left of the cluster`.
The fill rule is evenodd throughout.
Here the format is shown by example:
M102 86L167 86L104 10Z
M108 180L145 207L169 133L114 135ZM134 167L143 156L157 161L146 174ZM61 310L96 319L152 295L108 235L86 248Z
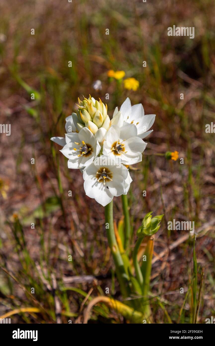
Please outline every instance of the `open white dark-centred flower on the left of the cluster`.
M60 150L68 160L68 168L82 168L93 162L100 145L92 132L84 127L79 133L67 133L66 145Z

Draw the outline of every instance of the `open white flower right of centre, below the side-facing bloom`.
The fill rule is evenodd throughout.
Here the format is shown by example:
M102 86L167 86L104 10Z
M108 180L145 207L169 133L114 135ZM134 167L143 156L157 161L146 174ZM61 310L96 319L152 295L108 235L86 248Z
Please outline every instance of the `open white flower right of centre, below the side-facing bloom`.
M113 160L121 159L126 165L132 165L142 161L142 152L147 143L137 137L137 127L126 124L122 127L112 125L104 141L103 154Z

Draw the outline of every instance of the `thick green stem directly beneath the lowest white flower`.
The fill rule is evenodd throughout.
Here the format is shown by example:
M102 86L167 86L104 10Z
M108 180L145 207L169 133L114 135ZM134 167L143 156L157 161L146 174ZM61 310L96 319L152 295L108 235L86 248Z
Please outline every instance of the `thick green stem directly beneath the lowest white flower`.
M122 295L124 298L126 298L129 296L130 290L128 286L128 276L125 272L124 263L114 233L113 201L105 206L105 222L109 224L109 228L107 228L108 244L113 255L113 260L116 267L116 275L120 284Z

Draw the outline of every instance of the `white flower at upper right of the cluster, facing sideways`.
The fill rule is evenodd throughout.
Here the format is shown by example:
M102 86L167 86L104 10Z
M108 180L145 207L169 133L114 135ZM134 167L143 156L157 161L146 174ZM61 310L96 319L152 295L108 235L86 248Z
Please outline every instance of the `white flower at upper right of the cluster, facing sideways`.
M113 114L113 119L111 123L113 124L114 117L118 112L118 108L116 107ZM145 138L148 136L153 130L150 130L150 127L154 124L155 114L144 115L144 109L141 103L134 104L131 106L131 101L127 97L127 99L123 102L120 107L120 112L122 113L123 120L130 124L134 124L137 127L137 136L140 138Z

